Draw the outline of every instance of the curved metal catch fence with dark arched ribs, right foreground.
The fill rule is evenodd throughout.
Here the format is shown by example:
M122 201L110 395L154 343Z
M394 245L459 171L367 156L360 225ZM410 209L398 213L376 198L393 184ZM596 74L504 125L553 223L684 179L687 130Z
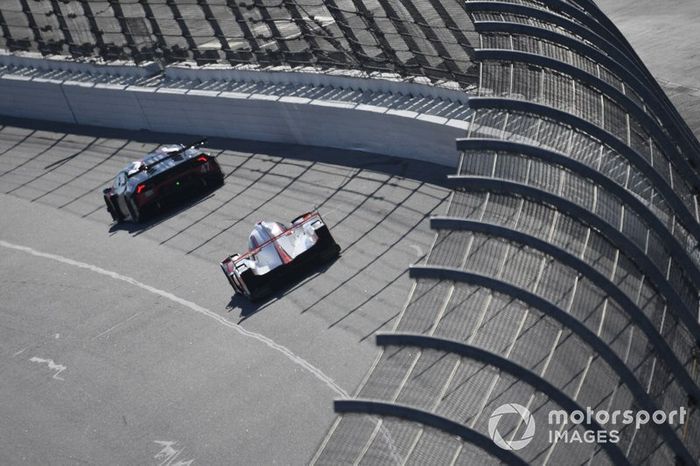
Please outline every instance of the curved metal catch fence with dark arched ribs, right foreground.
M449 205L312 462L697 464L698 141L592 2L464 7L479 85ZM484 438L508 403L541 430L504 453ZM585 407L691 414L617 444L548 441L551 409Z

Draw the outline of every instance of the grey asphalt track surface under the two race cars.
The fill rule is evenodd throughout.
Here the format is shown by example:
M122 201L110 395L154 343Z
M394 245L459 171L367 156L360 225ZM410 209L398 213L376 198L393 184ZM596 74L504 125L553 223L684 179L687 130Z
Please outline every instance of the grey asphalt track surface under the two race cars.
M110 226L101 189L177 140L0 127L0 464L303 464L373 363L448 170L212 140L222 188ZM232 297L218 261L314 205L341 258L260 305Z

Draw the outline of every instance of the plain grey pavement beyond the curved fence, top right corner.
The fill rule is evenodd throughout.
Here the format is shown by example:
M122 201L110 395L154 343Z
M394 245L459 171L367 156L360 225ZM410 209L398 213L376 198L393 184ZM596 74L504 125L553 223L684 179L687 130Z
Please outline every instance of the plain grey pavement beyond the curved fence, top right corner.
M700 136L700 2L596 0Z

